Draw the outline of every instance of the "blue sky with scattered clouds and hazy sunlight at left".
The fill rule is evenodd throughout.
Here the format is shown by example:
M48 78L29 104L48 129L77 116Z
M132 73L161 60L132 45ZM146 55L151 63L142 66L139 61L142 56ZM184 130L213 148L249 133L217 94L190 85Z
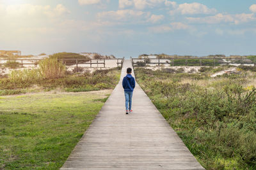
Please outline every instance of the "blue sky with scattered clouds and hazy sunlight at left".
M256 55L256 0L0 0L0 50Z

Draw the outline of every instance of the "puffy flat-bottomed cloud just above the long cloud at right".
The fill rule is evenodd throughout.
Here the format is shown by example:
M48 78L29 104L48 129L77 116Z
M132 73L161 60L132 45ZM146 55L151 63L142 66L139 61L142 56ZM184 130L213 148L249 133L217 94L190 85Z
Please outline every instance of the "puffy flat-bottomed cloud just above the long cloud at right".
M175 13L181 13L182 15L195 15L195 14L212 14L216 13L216 9L214 8L208 8L204 4L200 3L184 3L179 4L179 6L175 9L170 11L171 15L174 15Z

